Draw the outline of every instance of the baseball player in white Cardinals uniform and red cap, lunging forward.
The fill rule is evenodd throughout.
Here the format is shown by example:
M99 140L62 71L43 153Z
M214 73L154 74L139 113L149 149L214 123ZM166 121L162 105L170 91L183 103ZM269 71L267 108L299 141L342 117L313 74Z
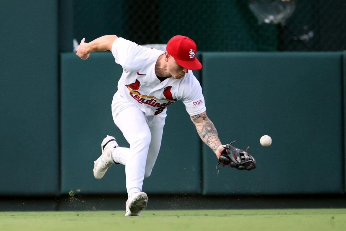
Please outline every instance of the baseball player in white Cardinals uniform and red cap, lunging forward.
M125 216L139 216L148 203L142 192L143 179L150 176L159 153L169 105L177 100L184 103L200 138L218 159L225 147L206 114L201 85L190 71L202 68L192 39L174 36L164 52L106 35L90 43L83 38L76 54L87 59L91 52L105 50L110 50L124 69L111 108L114 123L130 148L119 147L112 136L104 138L102 154L94 161L94 177L101 179L112 164L125 165Z

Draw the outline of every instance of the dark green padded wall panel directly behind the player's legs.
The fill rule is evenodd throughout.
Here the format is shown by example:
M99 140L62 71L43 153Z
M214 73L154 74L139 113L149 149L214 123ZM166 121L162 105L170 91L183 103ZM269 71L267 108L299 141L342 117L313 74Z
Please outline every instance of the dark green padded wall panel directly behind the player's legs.
M100 180L92 174L106 135L115 136L122 147L129 146L111 115L121 72L110 52L93 53L86 61L73 53L61 54L62 193L77 189L81 193L126 193L125 166L111 166ZM197 132L181 102L171 105L167 114L161 151L143 190L200 193Z

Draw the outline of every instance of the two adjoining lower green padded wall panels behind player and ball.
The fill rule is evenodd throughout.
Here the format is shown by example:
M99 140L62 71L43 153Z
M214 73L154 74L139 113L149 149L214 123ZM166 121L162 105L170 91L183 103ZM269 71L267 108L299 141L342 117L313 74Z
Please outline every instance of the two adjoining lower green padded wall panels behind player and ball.
M251 146L258 167L251 172L221 168L218 175L214 154L201 144L177 102L167 111L161 153L152 176L145 179L145 191L344 193L341 52L203 53L201 59L207 113L222 142L237 140L235 146L242 149ZM62 193L75 188L85 193L125 192L124 166L110 168L101 180L93 179L91 172L105 135L128 145L110 111L120 75L121 67L109 52L86 61L72 53L61 55ZM273 138L266 148L259 144L265 134ZM327 151L330 147L333 152ZM225 177L232 183L224 184Z

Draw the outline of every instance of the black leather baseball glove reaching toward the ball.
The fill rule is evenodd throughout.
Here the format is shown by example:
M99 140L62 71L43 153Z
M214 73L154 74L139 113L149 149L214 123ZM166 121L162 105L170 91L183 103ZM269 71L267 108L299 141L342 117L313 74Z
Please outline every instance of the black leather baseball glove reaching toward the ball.
M256 168L256 160L251 155L247 153L249 147L246 148L246 151L240 150L231 146L233 142L227 144L224 148L225 150L221 153L219 161L216 165L218 168L219 165L224 167L227 165L238 170L252 170Z

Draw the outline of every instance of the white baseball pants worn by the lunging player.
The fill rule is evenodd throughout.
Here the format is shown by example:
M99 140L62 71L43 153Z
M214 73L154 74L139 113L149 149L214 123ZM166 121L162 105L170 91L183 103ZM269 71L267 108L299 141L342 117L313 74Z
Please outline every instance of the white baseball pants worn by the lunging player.
M161 146L166 112L145 116L133 102L113 97L112 115L130 148L119 147L112 153L113 159L125 165L128 196L142 191L143 180L150 176Z

